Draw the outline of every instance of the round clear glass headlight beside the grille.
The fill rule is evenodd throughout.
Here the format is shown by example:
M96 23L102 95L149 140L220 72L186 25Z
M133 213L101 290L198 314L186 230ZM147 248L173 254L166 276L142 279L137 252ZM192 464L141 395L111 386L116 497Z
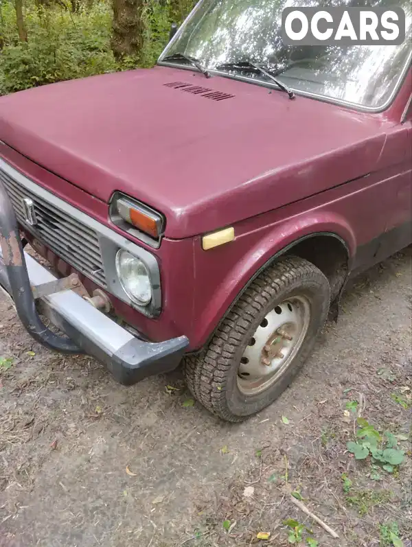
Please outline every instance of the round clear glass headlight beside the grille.
M116 270L124 291L133 302L146 306L152 299L152 285L148 270L137 257L119 249Z

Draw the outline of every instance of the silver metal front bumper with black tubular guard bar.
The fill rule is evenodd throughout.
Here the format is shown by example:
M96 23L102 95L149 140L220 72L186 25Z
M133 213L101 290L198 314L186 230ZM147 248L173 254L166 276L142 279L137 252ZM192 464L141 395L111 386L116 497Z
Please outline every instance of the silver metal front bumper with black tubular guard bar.
M140 340L73 290L55 292L37 301L41 313L69 339L43 324L32 287L56 281L56 277L23 251L16 217L1 183L0 243L0 286L12 296L19 318L35 340L65 353L88 353L126 385L179 365L189 345L185 336L158 343Z

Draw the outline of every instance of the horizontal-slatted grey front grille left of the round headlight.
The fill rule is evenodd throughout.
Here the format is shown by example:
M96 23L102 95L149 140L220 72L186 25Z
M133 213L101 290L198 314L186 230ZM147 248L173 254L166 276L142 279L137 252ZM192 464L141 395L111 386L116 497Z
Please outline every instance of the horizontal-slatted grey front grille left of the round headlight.
M0 181L10 196L17 220L58 257L106 288L97 233L67 211L61 211L45 198L23 187L1 170ZM22 202L24 198L30 198L34 202L37 221L35 226L27 224L25 219Z

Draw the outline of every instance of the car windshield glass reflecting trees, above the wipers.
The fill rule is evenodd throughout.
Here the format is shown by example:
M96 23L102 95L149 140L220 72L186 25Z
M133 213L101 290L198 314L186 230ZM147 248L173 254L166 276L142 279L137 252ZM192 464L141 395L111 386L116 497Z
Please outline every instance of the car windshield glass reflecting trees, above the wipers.
M411 56L412 3L376 0L374 7L396 5L406 14L402 45L284 45L282 10L290 0L203 0L187 19L163 56L177 52L196 58L205 69L249 60L259 63L299 93L321 95L367 108L382 108L390 100ZM362 0L293 0L293 7L365 5ZM174 61L182 64L179 61ZM259 73L241 67L220 67L273 85Z

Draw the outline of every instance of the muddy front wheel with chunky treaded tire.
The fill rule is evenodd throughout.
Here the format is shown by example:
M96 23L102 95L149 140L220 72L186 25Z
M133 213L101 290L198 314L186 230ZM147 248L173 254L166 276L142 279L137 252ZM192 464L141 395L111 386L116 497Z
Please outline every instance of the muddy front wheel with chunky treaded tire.
M329 306L329 282L319 268L298 257L280 259L244 290L209 345L200 354L185 358L187 386L214 415L232 422L247 419L275 401L293 381L312 351L328 316ZM293 322L284 323L295 329L295 338L288 336L282 325L275 331L276 338L270 338L273 341L265 342L262 353L256 353L260 345L253 349L256 344L253 340L262 340L262 336L266 336L262 329L271 328L266 318L271 325L277 325L273 321L281 321L274 312L279 317L282 314L285 318L296 316L300 331ZM279 331L282 332L281 338L277 334ZM270 332L268 334L272 336ZM289 341L293 339L295 342ZM282 351L273 357L272 353L279 345ZM292 349L287 349L286 345ZM287 357L282 353L285 348L289 351ZM244 357L245 354L252 355L251 352L260 358ZM280 364L276 364L278 361ZM266 374L264 365L274 372L268 375L267 380L262 376L259 387L258 380L255 382L254 379L259 377L260 371ZM245 372L249 370L254 375Z

